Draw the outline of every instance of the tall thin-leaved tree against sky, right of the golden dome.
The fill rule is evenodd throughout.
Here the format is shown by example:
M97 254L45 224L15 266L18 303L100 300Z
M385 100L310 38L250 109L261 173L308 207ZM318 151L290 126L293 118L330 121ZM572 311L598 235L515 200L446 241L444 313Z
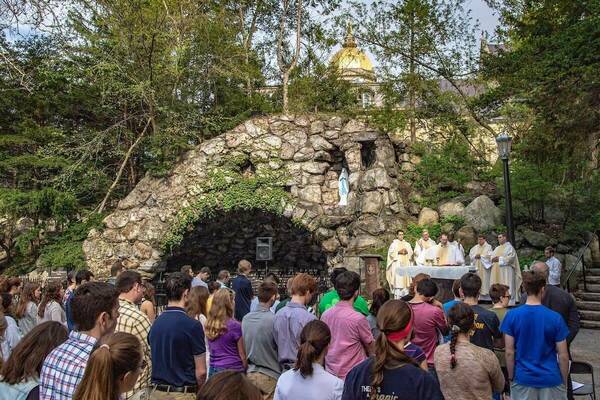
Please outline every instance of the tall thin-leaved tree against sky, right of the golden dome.
M392 107L402 106L412 142L431 121L431 110L452 120L469 116L495 133L471 105L469 91L478 85L477 46L464 0L375 1L354 3L353 10L360 21L357 35L381 61L386 99ZM451 90L443 92L442 81ZM463 129L456 131L469 141Z

